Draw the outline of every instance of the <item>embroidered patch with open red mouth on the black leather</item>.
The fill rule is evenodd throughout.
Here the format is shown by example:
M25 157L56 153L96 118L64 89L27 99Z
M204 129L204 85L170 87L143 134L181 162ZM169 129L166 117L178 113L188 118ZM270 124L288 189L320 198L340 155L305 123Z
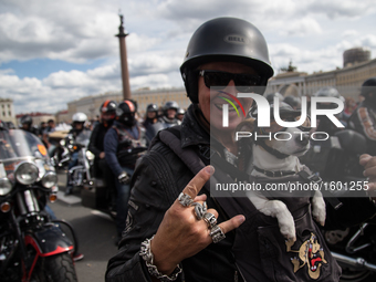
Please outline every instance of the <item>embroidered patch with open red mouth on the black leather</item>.
M317 237L311 232L310 239L304 241L299 250L291 249L295 242L286 241L285 243L288 252L295 252L299 254L299 257L291 258L294 273L306 265L310 278L317 279L320 276L321 267L324 263L327 263L324 258L324 250L320 246Z

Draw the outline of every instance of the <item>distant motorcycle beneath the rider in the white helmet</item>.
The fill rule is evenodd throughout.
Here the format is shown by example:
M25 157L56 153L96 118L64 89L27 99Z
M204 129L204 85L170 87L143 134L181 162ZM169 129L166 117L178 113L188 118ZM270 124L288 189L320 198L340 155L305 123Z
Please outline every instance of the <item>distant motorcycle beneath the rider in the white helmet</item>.
M73 167L69 167L67 177L70 185L73 187L84 187L84 185L93 186L94 179L92 177L92 167L94 163L94 155L87 150L91 132L83 130L74 139L72 134L69 134L60 142L64 152L59 167L64 167L71 161L75 161Z

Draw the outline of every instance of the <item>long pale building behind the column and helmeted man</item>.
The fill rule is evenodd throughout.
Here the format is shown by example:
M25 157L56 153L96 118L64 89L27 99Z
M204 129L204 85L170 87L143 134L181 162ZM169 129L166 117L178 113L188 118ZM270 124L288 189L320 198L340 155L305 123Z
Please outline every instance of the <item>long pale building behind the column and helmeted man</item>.
M303 72L284 72L270 79L265 95L279 92L284 96L313 95L321 87L335 86L344 97L358 100L359 88L363 82L376 76L376 59L370 60L370 52L363 48L346 50L343 54L343 69L330 72L307 74ZM187 108L190 104L186 90L137 90L132 92L132 98L137 101L138 113L144 116L146 106L150 103L163 106L167 101L176 101L180 107ZM71 118L74 113L83 112L88 119L95 119L100 114L100 106L106 100L121 102L122 92L108 92L95 96L83 97L67 103L65 118Z

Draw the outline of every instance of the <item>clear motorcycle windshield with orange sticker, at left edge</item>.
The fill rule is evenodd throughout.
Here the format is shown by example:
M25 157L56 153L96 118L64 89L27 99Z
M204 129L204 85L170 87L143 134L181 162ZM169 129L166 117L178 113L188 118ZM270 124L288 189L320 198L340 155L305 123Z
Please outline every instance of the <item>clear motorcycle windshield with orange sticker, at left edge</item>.
M33 134L10 129L0 130L0 161L43 159L49 161L48 150L42 142Z

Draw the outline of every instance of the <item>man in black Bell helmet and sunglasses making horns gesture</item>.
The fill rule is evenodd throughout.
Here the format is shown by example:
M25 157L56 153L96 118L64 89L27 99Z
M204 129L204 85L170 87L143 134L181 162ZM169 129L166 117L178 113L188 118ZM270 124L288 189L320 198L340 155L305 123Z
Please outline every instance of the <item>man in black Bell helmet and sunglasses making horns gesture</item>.
M233 133L246 116L229 111L223 127L223 98L239 91L262 95L273 75L261 32L241 19L207 21L191 36L180 71L192 104L182 125L159 132L137 164L127 226L118 253L108 261L106 281L337 281L340 267L313 222L300 236L309 240L314 233L314 243L321 246L314 251L325 254L325 267L315 279L310 263L300 269L293 264L299 254L286 251L284 238L271 232L274 221L261 216L248 198L210 194L210 182L230 185L238 177L224 166L208 166L218 160L231 167L239 156ZM213 86L220 90L210 91ZM253 103L247 97L238 101L247 111ZM376 158L365 156L362 163L368 169ZM307 208L302 207L302 215L310 213ZM376 212L368 198L343 202L337 211L348 209L347 219L359 222ZM354 215L354 209L362 215ZM327 221L345 224L334 211L327 215ZM300 222L295 221L297 230L303 231Z

